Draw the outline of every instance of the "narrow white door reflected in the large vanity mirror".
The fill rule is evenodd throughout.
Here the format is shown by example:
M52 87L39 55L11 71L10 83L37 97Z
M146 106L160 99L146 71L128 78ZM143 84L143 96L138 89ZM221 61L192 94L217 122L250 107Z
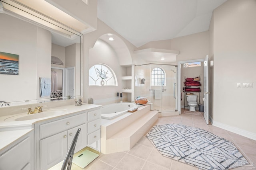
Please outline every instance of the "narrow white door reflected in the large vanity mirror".
M75 67L65 68L65 94L75 96Z

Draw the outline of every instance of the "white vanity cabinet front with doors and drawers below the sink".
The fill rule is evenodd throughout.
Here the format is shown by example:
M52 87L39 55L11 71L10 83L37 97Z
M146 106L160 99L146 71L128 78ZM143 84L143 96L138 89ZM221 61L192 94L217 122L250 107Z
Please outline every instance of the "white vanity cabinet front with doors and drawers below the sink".
M81 128L74 152L90 146L100 150L100 109L76 112L69 117L38 122L37 169L45 170L64 160L78 128Z

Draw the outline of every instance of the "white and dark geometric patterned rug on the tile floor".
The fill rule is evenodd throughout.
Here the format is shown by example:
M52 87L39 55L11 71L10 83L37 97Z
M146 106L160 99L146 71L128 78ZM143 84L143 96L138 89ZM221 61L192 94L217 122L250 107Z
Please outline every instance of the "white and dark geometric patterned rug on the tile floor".
M249 164L232 142L197 127L156 125L146 137L162 155L200 169L228 170Z

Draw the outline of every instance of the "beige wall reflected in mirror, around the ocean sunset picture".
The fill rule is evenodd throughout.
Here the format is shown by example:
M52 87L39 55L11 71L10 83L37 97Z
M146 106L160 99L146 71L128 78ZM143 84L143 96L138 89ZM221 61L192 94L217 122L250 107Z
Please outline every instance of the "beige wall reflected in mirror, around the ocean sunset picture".
M6 14L0 21L0 51L19 55L19 75L0 74L0 100L36 100L39 77L51 77L51 33Z

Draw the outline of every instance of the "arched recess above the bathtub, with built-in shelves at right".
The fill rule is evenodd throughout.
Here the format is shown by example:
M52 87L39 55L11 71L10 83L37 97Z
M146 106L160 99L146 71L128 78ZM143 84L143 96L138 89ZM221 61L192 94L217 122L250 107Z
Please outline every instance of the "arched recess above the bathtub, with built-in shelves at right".
M112 41L109 38L113 38ZM92 73L90 68L99 63L112 69L112 72L116 75L115 85L109 85L105 79L103 79L103 87L97 82L100 80L96 75L97 70ZM133 98L131 97L131 94L133 94L131 90L132 56L122 38L113 34L104 34L98 37L92 47L89 48L88 63L86 64L88 64L88 77L86 76L84 79L88 80L88 83L86 83L86 86L88 85L87 95L94 98L95 104L105 105L118 102L120 97L117 97L117 92L123 93L123 101L131 101L131 98ZM106 68L104 69L106 71ZM90 74L95 74L95 77L90 77ZM130 79L124 80L124 76L129 76ZM95 82L94 84L92 80Z

